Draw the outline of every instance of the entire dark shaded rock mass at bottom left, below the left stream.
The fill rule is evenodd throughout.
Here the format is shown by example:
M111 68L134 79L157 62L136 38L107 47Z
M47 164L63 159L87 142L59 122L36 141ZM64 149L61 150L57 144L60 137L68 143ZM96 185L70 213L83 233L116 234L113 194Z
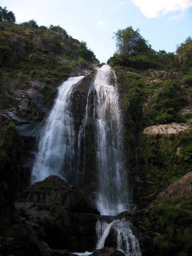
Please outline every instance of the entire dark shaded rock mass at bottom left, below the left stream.
M15 203L16 221L0 254L70 255L93 251L99 212L74 186L58 176L36 182Z

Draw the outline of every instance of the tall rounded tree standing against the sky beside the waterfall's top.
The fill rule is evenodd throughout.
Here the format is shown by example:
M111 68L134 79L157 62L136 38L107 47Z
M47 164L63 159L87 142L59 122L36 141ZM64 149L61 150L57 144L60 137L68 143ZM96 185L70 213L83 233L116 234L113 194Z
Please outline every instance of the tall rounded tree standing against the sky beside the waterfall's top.
M134 30L132 26L119 29L114 33L113 39L116 40L116 52L126 60L136 54L148 52L151 46L140 35L139 29Z

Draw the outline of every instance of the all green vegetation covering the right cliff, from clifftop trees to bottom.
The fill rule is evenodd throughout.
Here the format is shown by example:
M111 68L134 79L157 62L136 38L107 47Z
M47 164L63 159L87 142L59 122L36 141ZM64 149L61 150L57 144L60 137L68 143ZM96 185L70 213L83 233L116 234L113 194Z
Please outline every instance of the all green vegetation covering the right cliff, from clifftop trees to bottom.
M152 50L131 26L118 30L114 38L117 49L108 64L117 75L125 154L135 173L134 198L144 208L192 168L191 128L169 135L143 133L148 126L172 122L192 127L192 39L178 45L175 54ZM186 195L146 210L143 223L154 255L190 255L191 200Z

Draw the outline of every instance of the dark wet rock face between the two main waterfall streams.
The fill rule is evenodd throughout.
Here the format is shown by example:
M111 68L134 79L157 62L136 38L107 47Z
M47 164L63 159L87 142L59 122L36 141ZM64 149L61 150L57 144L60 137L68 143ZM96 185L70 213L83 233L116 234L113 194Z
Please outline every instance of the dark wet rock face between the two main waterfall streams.
M79 83L76 89L72 93L72 105L71 111L74 120L74 130L75 130L75 150L78 152L76 156L79 158L75 160L78 164L77 168L79 170L84 170L84 173L78 173L81 178L78 178L78 184L74 183L74 179L71 181L76 184L85 194L92 197L92 192L95 191L96 184L96 141L95 132L96 124L93 118L84 118L87 95L96 71L91 72L89 75L85 76ZM94 90L90 94L90 102L92 102L92 108L88 109L88 113L93 111L94 102ZM90 186L91 184L91 186ZM92 193L92 194L90 194Z

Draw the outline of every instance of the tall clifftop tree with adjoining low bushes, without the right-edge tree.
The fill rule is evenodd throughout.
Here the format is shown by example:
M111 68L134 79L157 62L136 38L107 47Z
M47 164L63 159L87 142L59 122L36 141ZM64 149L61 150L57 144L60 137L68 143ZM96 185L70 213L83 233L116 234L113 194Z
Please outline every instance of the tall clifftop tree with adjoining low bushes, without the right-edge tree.
M173 52L156 52L132 26L114 33L116 54L108 60L111 66L121 65L138 70L148 68L173 69L179 66L179 58Z

